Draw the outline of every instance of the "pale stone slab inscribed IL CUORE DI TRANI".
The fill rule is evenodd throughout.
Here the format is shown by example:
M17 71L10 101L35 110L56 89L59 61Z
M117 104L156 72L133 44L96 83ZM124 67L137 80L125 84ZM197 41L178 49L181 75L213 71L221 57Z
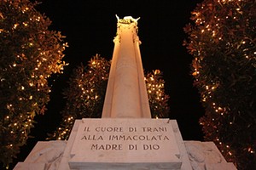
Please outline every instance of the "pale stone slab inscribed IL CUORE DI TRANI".
M72 169L180 169L169 119L83 119L71 150Z

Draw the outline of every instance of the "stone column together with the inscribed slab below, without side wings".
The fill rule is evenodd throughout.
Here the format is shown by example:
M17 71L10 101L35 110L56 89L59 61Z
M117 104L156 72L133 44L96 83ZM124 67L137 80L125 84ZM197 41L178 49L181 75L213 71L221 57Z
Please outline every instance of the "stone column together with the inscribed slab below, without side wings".
M151 119L137 20L118 18L102 119L83 119L71 150L72 169L180 169L168 119Z

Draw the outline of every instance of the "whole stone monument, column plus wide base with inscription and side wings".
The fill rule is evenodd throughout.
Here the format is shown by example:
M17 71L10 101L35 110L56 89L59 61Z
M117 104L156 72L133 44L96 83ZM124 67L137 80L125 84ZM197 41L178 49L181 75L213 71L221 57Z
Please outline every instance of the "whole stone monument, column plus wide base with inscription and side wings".
M212 142L183 141L175 120L151 118L138 19L117 18L102 118L76 120L68 141L38 142L15 169L236 169Z

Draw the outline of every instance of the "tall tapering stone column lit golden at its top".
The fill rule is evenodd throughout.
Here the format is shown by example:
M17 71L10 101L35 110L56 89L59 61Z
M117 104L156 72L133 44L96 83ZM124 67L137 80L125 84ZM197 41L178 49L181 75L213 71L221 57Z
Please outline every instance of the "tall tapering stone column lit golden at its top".
M102 118L151 118L137 20L118 18Z

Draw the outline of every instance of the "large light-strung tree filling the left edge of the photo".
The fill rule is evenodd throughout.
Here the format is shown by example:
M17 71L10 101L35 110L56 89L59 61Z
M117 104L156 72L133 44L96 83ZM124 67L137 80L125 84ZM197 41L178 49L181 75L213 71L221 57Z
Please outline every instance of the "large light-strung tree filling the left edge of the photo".
M49 102L48 78L61 73L67 47L28 0L0 1L0 161L8 168Z

